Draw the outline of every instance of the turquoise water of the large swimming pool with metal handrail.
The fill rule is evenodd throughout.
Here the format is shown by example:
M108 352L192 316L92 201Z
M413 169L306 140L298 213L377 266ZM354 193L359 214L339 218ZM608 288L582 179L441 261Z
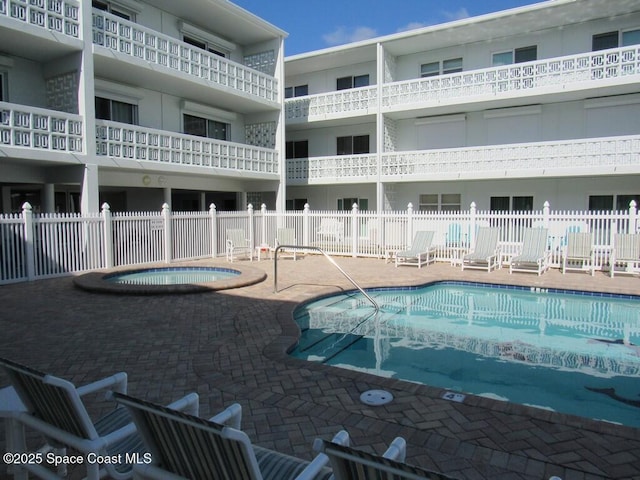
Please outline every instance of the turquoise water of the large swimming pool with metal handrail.
M640 427L640 297L440 282L308 303L294 357Z

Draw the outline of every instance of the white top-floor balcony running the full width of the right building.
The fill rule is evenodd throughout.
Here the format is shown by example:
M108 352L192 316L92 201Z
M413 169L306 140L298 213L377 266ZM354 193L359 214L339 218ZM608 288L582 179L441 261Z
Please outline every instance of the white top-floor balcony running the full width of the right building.
M395 118L464 109L630 93L640 81L640 45L383 84L381 111ZM290 124L375 113L376 86L285 101ZM548 99L548 100L545 100ZM475 105L475 106L474 106Z

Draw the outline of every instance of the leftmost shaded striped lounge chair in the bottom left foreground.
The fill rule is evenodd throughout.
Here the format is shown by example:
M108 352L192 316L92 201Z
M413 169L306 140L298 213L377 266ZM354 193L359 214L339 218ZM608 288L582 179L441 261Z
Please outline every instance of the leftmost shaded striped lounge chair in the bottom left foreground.
M97 480L105 476L113 479L132 477L131 464L124 459L126 454L144 452L144 446L136 434L129 412L126 408L114 404L116 408L94 423L82 400L83 396L100 391L126 392L126 373L120 372L76 388L67 380L7 359L0 358L0 367L7 373L24 405L24 409L9 419L19 425L11 429L12 438L7 439L17 451L27 451L26 427L42 434L60 455L66 454L67 447L72 447L83 455L87 479ZM191 400L191 397L185 397L173 406L188 408ZM88 461L89 454L104 461ZM119 461L114 463L109 459ZM12 465L12 468L15 478L26 478L25 470L39 478L65 478L64 471L58 471L56 475L46 468L46 464L47 462L25 462Z

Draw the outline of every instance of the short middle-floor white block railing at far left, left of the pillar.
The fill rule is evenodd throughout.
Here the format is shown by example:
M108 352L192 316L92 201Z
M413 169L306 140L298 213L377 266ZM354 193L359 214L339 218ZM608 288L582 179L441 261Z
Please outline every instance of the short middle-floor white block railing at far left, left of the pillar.
M0 146L81 153L83 143L79 115L0 102Z

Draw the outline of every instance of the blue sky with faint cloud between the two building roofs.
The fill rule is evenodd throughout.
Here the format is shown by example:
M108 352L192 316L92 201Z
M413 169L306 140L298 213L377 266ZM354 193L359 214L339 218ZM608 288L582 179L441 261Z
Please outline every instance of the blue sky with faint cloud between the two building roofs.
M231 0L289 33L286 55L538 3L539 0Z

